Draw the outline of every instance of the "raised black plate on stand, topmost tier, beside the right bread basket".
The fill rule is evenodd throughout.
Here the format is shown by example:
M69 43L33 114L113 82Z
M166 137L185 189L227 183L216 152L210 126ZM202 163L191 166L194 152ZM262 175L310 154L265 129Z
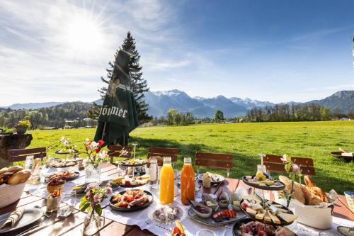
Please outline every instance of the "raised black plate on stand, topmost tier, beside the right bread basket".
M258 176L243 176L242 181L245 184L255 187L256 189L263 189L263 190L282 190L285 189L285 184L279 180L270 179L269 176L264 174L260 178Z

